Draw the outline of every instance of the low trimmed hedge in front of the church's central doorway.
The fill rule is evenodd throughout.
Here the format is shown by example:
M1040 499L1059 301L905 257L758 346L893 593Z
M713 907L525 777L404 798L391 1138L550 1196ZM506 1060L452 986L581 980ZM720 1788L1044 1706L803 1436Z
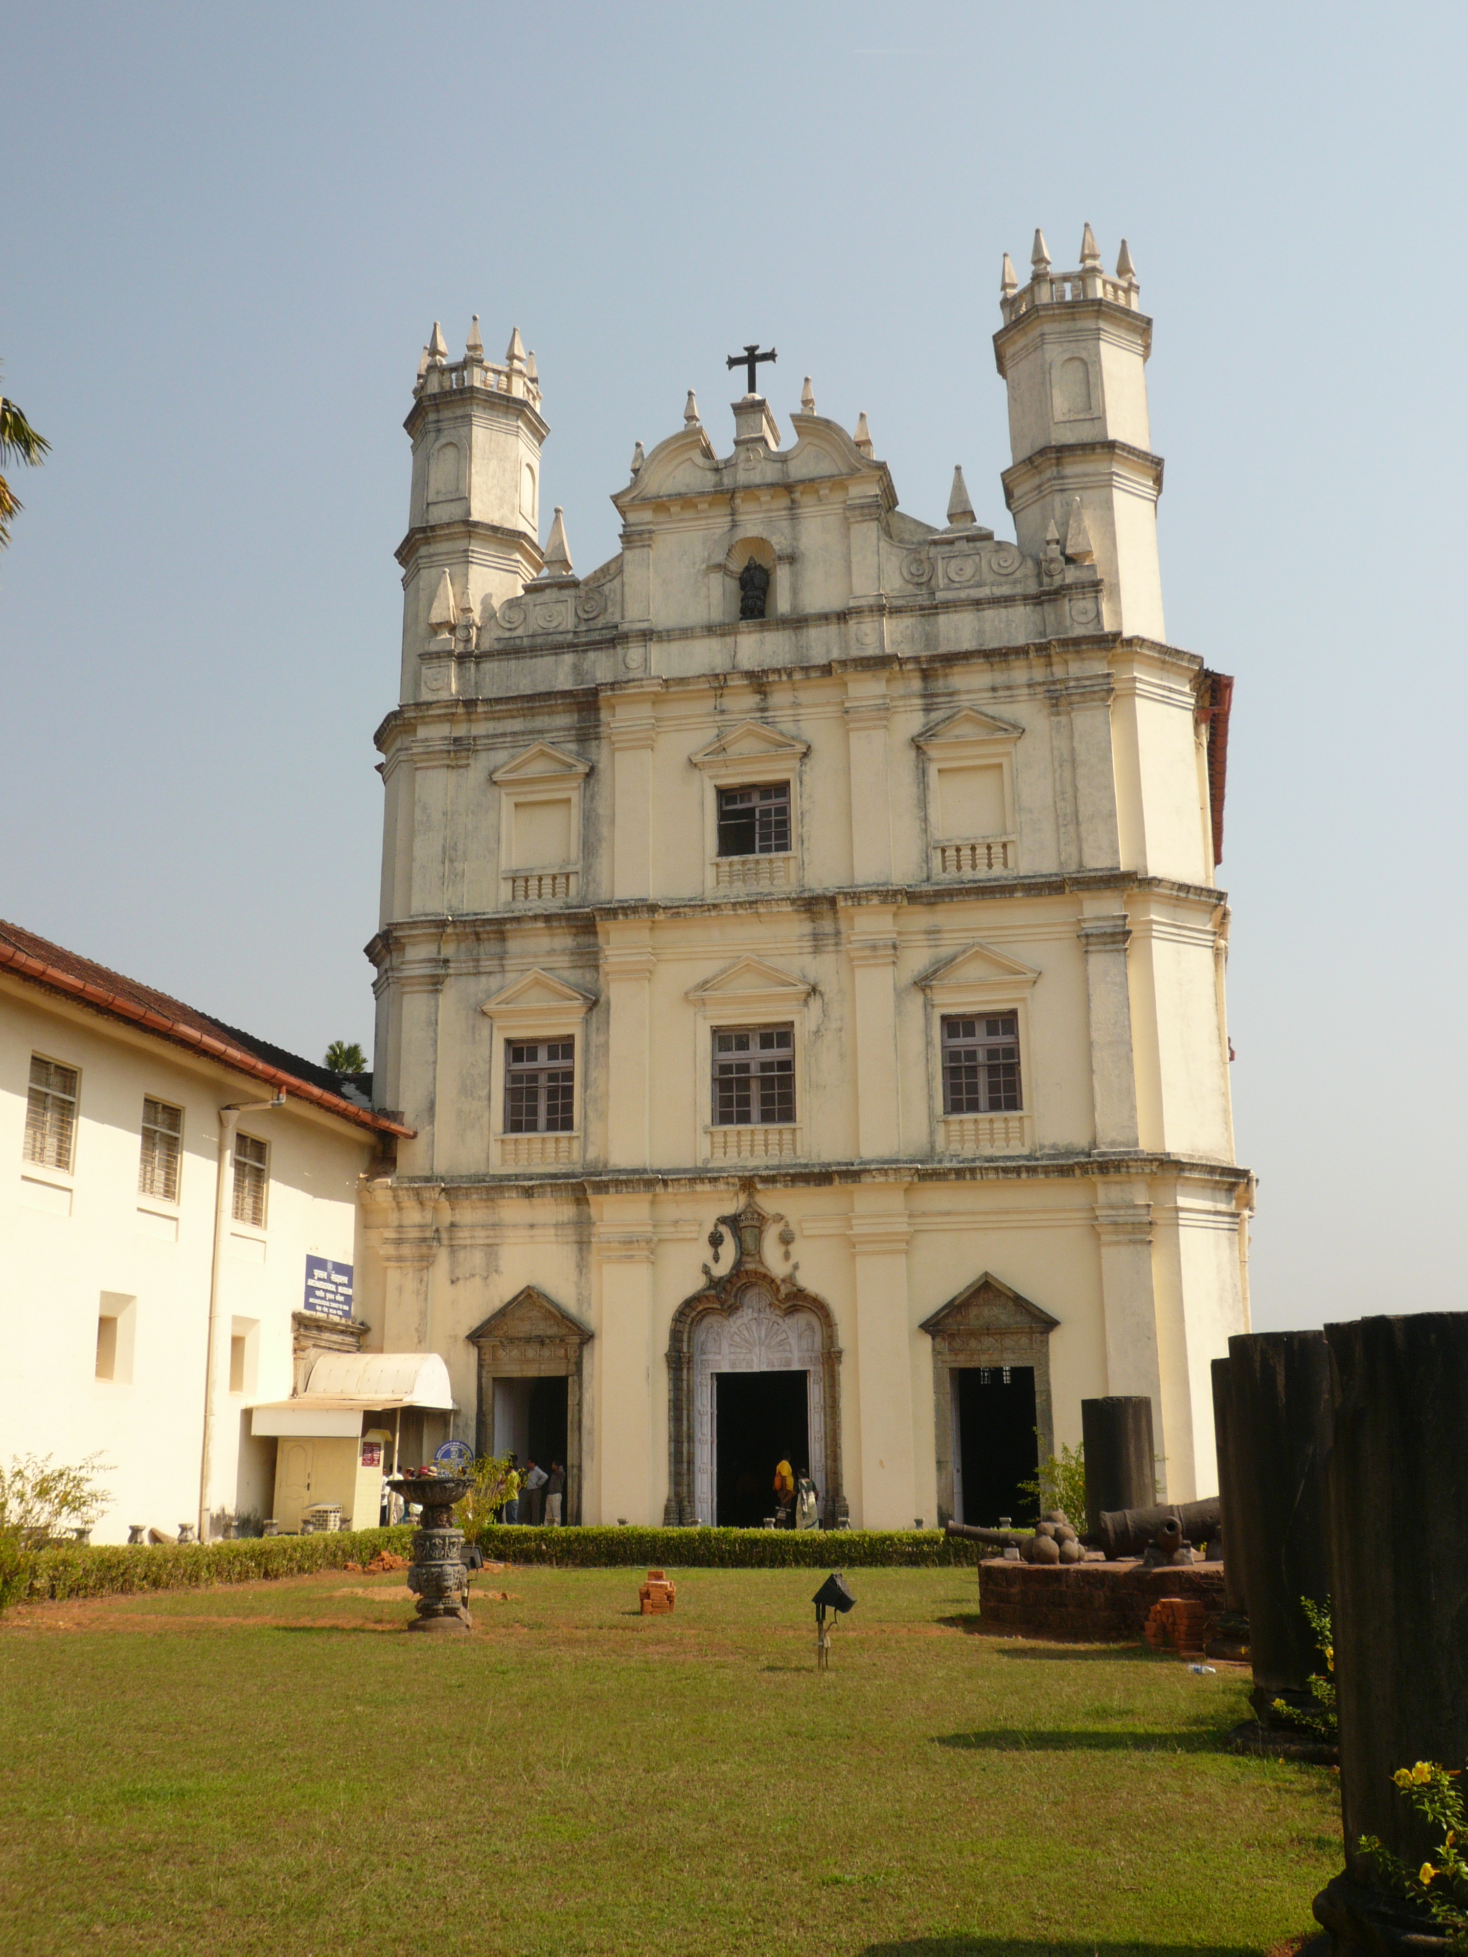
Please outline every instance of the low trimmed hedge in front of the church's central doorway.
M554 1570L934 1570L975 1564L977 1544L940 1528L523 1528L480 1536L495 1562Z

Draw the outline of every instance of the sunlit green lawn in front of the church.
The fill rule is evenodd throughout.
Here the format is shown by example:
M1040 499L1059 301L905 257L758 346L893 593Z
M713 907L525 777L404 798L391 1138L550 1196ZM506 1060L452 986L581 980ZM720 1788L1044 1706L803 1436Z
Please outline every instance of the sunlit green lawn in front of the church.
M973 1570L507 1570L0 1620L0 1910L53 1951L1268 1951L1341 1865L1333 1775L1237 1759L1247 1673L979 1634ZM485 1591L507 1589L509 1601Z

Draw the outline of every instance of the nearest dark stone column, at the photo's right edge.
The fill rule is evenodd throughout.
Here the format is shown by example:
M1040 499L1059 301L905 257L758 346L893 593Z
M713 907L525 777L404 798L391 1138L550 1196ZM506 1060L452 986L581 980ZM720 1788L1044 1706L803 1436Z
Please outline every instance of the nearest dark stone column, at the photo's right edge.
M1356 1319L1325 1341L1347 1873L1315 1916L1337 1951L1427 1951L1446 1945L1405 1941L1411 1916L1382 1896L1356 1842L1380 1836L1415 1869L1433 1843L1392 1773L1468 1759L1468 1311Z

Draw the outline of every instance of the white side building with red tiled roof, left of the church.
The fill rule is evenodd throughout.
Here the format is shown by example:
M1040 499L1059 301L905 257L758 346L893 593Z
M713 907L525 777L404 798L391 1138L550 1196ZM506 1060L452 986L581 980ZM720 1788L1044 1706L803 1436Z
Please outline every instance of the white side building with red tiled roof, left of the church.
M352 1092L0 924L0 1458L100 1454L114 1499L94 1540L272 1515L286 1431L335 1450L315 1487L282 1489L296 1503L282 1521L343 1501L376 1526L384 1434L399 1405L421 1405L421 1364L352 1382L366 1388L356 1433L376 1434L362 1448L343 1442L335 1401L305 1429L262 1413L252 1431L249 1411L315 1384L317 1360L341 1368L368 1331L352 1294L358 1178L409 1131ZM423 1415L409 1421L421 1444ZM362 1462L378 1474L358 1489ZM311 1462L298 1466L301 1479Z

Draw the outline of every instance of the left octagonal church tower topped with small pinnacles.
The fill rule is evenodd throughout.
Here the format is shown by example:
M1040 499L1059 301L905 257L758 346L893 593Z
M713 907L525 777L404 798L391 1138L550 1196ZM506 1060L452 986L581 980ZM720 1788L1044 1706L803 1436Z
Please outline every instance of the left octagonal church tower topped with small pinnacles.
M433 640L472 628L485 597L513 597L540 569L540 382L519 327L501 366L483 358L478 313L450 362L438 321L423 348L413 409L403 566L403 697ZM462 632L460 632L462 636Z

